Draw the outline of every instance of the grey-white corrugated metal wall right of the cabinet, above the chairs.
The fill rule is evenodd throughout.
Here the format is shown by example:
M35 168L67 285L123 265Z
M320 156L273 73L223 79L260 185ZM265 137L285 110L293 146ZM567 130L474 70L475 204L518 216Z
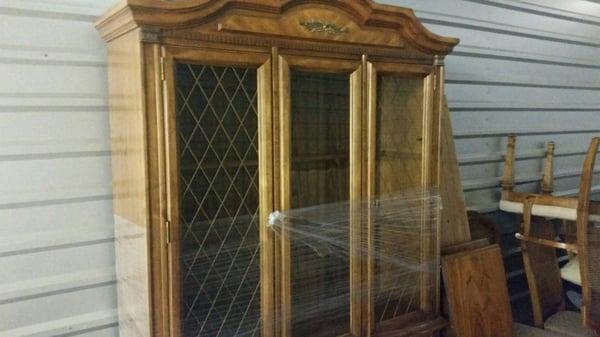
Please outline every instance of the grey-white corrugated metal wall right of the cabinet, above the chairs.
M516 179L537 189L544 143L556 142L556 186L572 194L600 135L600 4L582 0L386 0L461 39L447 95L467 204L497 209L505 136L516 133ZM600 187L597 185L597 187Z

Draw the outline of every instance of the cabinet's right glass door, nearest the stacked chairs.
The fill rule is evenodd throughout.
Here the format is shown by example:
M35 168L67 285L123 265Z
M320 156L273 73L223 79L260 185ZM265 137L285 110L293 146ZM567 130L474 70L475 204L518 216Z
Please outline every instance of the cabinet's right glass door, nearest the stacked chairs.
M433 128L433 76L371 70L370 198L427 196L433 186L429 160L435 140L428 134ZM420 205L415 201L412 207ZM422 209L421 216L426 211ZM378 255L402 261L392 265L371 260L371 326L375 329L407 314L427 313L436 300L437 271L429 269L437 259L436 228L425 217L396 226L393 231L373 226L370 232Z

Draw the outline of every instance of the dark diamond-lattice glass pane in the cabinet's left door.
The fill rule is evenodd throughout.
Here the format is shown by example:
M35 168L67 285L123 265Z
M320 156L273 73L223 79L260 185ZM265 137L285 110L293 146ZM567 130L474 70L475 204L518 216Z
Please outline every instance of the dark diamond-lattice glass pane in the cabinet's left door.
M179 64L184 337L259 336L256 69Z

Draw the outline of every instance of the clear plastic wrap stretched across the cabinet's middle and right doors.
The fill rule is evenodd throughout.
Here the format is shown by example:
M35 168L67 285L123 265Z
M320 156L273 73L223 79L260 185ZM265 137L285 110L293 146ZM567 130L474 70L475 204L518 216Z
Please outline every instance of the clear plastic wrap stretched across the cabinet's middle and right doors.
M282 319L292 334L346 333L359 305L371 308L373 326L433 312L440 209L433 191L272 213L271 230L290 246L283 263L290 264L291 317Z

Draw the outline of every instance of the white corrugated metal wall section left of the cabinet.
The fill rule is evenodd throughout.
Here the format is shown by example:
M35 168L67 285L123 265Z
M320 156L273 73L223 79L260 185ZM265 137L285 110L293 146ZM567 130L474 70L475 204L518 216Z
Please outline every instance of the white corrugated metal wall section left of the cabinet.
M0 0L0 336L116 336L112 0Z

